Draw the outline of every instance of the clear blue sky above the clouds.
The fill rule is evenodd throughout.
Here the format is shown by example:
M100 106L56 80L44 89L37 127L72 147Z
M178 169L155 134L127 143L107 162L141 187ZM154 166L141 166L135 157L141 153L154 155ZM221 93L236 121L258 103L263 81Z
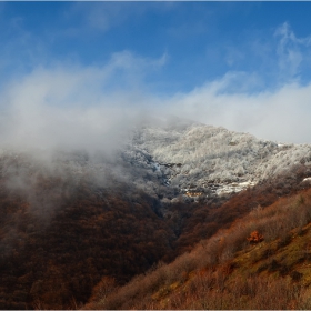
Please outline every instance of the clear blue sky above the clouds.
M9 74L57 62L101 67L128 52L147 64L163 59L143 77L159 93L190 91L229 71L258 74L259 89L308 82L310 42L288 39L281 50L281 41L284 31L308 41L310 9L310 2L1 2L1 67ZM290 60L290 49L304 58Z

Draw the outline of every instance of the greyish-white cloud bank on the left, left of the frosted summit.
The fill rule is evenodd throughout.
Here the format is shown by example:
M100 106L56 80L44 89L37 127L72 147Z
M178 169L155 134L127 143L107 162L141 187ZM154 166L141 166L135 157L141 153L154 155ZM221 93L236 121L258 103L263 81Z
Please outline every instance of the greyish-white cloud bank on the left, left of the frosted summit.
M139 87L139 71L162 63L162 57L148 60L121 52L102 68L38 68L8 84L1 97L1 146L117 148L143 114L144 102L152 101L132 88L133 80Z

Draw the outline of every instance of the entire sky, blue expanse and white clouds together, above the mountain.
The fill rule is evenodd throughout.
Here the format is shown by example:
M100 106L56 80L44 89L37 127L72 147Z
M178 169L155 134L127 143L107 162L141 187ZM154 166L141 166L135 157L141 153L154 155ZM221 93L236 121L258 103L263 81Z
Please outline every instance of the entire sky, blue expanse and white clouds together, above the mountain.
M311 2L0 2L2 142L57 144L80 128L102 137L148 111L311 143L310 12Z

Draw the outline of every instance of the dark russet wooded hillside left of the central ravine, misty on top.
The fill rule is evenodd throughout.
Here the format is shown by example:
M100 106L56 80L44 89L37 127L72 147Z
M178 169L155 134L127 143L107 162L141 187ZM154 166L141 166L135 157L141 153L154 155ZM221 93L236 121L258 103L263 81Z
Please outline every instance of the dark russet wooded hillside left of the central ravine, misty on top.
M172 249L154 199L71 159L1 158L0 309L72 309L101 275L124 283Z

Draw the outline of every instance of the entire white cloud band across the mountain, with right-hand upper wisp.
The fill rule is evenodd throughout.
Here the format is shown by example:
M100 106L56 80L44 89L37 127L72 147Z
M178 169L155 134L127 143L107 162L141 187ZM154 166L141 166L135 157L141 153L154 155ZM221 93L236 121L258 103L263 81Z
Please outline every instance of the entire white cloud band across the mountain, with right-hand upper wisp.
M280 66L297 74L304 58L300 47L310 39L297 38L288 24L275 36ZM112 150L141 118L171 114L263 139L311 143L311 83L289 79L262 90L264 78L228 72L163 99L147 92L144 81L168 59L168 53L150 59L121 51L102 67L37 68L8 83L1 94L0 146Z

